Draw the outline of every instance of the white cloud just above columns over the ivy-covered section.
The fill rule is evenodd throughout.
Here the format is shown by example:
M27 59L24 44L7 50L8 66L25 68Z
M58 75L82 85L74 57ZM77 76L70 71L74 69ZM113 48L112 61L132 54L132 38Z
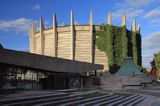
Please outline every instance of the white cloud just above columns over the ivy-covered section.
M113 12L113 19L121 20L122 16L124 14L126 14L127 19L130 21L130 20L133 20L133 18L142 15L143 10L142 9L137 10L137 9L133 9L133 8L129 8L129 9L126 9L126 10L119 9L119 10L116 10L116 11Z

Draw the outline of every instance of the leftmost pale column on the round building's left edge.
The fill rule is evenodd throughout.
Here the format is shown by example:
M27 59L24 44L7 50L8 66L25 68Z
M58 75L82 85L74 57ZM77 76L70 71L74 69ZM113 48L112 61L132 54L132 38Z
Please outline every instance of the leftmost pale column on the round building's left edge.
M35 26L35 23L34 21L32 22L32 26L30 28L30 53L35 53L35 49L36 49L36 42L35 42L35 33L36 33L36 26Z

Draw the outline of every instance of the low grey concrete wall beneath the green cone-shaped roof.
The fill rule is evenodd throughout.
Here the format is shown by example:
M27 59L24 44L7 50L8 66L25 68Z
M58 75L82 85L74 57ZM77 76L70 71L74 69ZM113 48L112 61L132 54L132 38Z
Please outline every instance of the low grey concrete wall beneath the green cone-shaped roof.
M105 90L123 90L123 89L140 89L143 86L128 86L123 88L124 85L140 85L141 83L151 83L153 77L147 74L139 75L116 75L105 74L101 76L101 88ZM152 84L151 84L152 85Z

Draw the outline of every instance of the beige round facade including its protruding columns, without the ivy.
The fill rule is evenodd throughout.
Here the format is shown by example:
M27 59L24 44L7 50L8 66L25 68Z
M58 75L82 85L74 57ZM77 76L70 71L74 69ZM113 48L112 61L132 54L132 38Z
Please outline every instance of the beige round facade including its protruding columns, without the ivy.
M108 24L112 25L111 12L108 14ZM133 26L135 26L134 23ZM122 19L122 26L126 25L126 16ZM104 65L103 71L108 71L107 54L99 50L95 44L96 31L99 25L93 25L92 11L87 25L75 25L73 12L70 15L70 25L58 26L56 15L53 15L53 27L44 28L40 19L40 31L36 31L35 24L30 29L30 52L58 58L84 61Z

